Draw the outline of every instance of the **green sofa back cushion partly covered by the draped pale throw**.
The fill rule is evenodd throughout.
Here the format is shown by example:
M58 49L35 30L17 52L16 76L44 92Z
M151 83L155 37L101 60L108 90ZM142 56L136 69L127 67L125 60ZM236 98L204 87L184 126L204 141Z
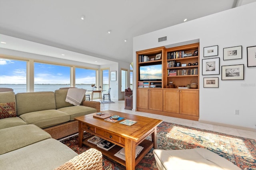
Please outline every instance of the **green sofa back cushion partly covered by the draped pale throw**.
M67 94L68 94L68 89L55 90L56 109L59 109L62 107L74 106L73 104L66 102ZM82 99L82 102L83 101L85 101L85 96Z

